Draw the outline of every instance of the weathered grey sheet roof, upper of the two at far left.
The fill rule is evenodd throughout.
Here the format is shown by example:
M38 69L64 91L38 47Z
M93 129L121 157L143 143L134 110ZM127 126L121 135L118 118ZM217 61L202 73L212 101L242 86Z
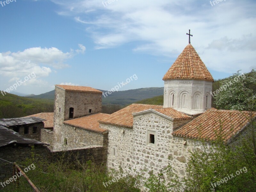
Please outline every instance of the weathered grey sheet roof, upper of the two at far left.
M5 127L11 127L15 125L25 125L32 123L43 122L45 119L39 117L20 117L20 118L10 118L10 119L0 119L0 125Z

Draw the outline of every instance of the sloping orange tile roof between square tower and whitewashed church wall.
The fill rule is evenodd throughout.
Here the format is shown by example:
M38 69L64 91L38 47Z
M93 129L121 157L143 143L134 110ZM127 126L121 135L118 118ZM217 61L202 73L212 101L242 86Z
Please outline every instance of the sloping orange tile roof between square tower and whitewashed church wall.
M105 113L97 113L94 115L64 121L64 124L80 127L82 129L87 129L94 132L103 133L107 131L107 129L100 128L100 123L98 121L108 116L110 115Z

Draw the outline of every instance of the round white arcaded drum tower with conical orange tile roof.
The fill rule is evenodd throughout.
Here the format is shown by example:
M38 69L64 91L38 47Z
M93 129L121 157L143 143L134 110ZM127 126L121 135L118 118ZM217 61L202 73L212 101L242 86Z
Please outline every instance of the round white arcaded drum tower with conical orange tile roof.
M211 108L213 78L188 44L163 77L164 108L201 111Z

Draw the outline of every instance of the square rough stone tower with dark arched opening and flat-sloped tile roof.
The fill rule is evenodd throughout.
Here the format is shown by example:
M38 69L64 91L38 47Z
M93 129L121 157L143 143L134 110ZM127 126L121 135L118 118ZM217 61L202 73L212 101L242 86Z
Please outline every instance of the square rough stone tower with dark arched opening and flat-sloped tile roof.
M63 122L95 113L102 108L102 92L92 87L55 85L54 98L54 148L63 144Z

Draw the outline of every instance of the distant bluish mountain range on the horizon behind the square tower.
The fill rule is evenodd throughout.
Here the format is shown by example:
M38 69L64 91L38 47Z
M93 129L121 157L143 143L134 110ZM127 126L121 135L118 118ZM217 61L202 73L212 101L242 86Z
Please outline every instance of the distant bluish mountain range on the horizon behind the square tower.
M108 91L100 90L103 93ZM54 92L46 92L40 95L27 95L26 97L38 98L38 99L52 99L54 100ZM102 104L118 104L118 105L128 105L135 103L140 100L152 98L155 96L163 95L164 87L149 87L149 88L140 88L140 89L131 89L127 91L117 91L112 92L111 94L102 95ZM106 96L108 95L108 96Z

